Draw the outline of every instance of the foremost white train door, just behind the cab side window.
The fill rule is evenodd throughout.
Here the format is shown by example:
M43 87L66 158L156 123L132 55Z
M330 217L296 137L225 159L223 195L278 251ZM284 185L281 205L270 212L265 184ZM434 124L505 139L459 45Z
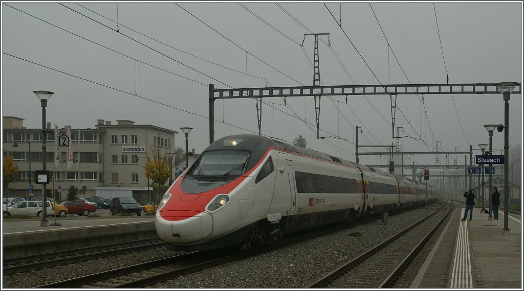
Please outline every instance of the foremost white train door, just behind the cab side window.
M280 212L282 216L294 214L297 204L294 191L292 162L293 160L290 154L278 153L277 177L275 179L273 201L271 202L271 212Z

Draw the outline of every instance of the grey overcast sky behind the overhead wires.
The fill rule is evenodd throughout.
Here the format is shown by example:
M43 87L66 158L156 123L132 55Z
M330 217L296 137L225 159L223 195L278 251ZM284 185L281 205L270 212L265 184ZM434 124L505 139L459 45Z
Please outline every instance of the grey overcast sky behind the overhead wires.
M132 120L179 131L180 147L180 127L189 126L189 148L200 153L209 145L209 84L313 85L314 37L304 33L330 33L319 37L323 85L522 82L522 2L3 1L2 114L41 127L32 91L49 90L48 122L94 129L97 119ZM488 143L483 125L504 123L500 94L423 98L398 96L402 151L479 151ZM302 134L309 148L351 161L355 126L359 145L396 145L389 96L349 96L347 104L344 96L322 97L320 135L340 137L327 139L316 139L313 100L264 98L262 134L289 143ZM509 102L514 149L522 141L521 95ZM215 101L215 120L215 139L258 133L253 99ZM495 154L503 147L504 134L495 132ZM439 158L454 164L454 155ZM457 159L464 163L464 155ZM360 157L365 165L388 160ZM412 162L435 157L406 157Z

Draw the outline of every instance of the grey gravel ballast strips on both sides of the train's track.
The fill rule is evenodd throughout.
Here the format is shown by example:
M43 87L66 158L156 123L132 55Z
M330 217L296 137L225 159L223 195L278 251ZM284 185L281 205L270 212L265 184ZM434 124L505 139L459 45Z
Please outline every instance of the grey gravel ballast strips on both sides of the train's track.
M384 225L377 220L351 229L296 243L241 261L158 283L152 288L302 288L321 274L375 246L429 211L412 211L389 216ZM155 248L104 259L54 266L3 276L3 288L30 288L72 277L98 273L118 267L170 257L176 252ZM351 287L351 286L347 286Z

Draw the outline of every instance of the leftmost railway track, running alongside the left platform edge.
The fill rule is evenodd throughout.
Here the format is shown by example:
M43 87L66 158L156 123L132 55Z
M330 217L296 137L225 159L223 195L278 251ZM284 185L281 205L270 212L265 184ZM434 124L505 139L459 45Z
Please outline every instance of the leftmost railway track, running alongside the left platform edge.
M3 261L4 267L2 270L4 275L9 275L19 272L43 269L51 266L104 258L108 255L135 252L162 246L165 246L165 242L160 241L158 238L152 238L141 239L132 242L118 242L111 243L109 245L28 255L25 257L5 259Z

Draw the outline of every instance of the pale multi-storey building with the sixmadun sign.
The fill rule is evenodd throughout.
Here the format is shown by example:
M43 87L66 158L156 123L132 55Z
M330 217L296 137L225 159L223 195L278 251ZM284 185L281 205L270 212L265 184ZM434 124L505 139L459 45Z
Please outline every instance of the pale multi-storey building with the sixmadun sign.
M42 187L35 183L34 177L34 171L42 168L42 129L27 129L23 119L17 117L4 117L3 126L4 155L13 156L19 167L19 177L9 183L9 193L4 193L4 197L42 196ZM57 142L51 124L47 123L50 133L47 133L46 167L53 177L47 189L59 200L67 198L71 185L80 190L81 197L133 196L141 204L158 200L159 193L152 193L152 181L145 177L144 165L154 151L173 157L177 131L130 120L117 120L116 124L97 120L95 129L64 126L59 129L59 136L65 134L66 127L71 132L72 166L67 168L68 147L60 146L60 162L55 168L53 152ZM171 170L171 181L176 177L176 166Z

